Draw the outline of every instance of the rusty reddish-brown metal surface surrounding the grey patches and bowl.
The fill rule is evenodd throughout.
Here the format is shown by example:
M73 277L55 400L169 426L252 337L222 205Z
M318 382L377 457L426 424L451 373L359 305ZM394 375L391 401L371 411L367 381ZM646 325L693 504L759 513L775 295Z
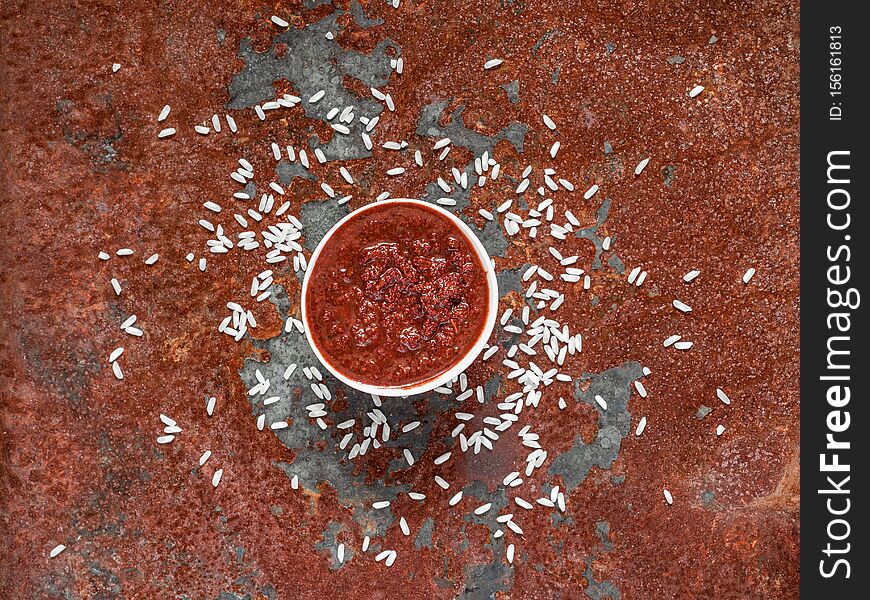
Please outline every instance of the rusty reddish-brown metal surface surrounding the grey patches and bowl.
M594 225L606 194L610 210L597 235L613 237L610 254L628 268L649 271L644 287L627 286L605 253L594 271L597 303L577 295L560 309L584 335L572 372L613 370L617 385L625 365L652 369L644 378L649 396L632 392L622 413L632 431L642 415L649 425L621 439L607 468L589 467L565 516L524 516L513 566L490 530L468 518L469 505L449 508L432 483L431 457L443 451L453 423L446 417L434 419L430 460L417 471L392 471L394 450L348 468L343 483L312 474L291 490L281 465L292 467L299 451L257 431L244 381L246 358L275 353L281 312L258 305L257 339L241 345L215 333L224 303L246 293L262 262L238 253L210 258L206 277L184 258L203 252L201 204L227 197L227 171L239 156L270 161L272 139L301 145L310 135L328 137L323 123L299 114L260 124L241 104L239 134L202 138L191 129L243 104L229 91L246 68L243 40L263 52L276 34L271 14L302 28L336 10L314 4L0 7L0 596L796 597L797 3L517 0L402 2L394 10L371 2L365 14L382 24L338 16L342 48L368 55L389 39L405 59L404 74L385 87L399 110L381 119L378 140L431 144L415 131L426 107L444 102L440 126L462 107L468 129L507 132L498 160L528 164L551 143L541 124L547 112L562 142L553 164L579 189L602 187L589 202L565 196L562 210ZM271 51L281 56L286 48ZM493 56L505 63L484 73ZM674 56L683 60L668 60ZM117 73L113 62L122 65ZM518 89L501 87L513 81ZM706 89L690 101L696 84ZM179 124L170 140L156 137L164 104ZM529 127L522 153L511 145L512 123ZM461 148L454 155L459 166L473 159ZM635 177L645 156L652 160ZM422 195L437 176L431 166L401 179L384 174L411 162L383 151L362 161L351 206L381 191ZM321 172L338 181L337 168ZM296 180L292 210L318 190L315 181ZM463 214L481 227L477 210L502 198L475 192ZM589 240L568 244L586 263L594 258ZM500 269L547 260L544 241L504 245ZM97 259L121 247L136 254ZM145 268L151 252L160 261ZM749 266L758 273L747 286L740 276ZM702 275L688 288L680 278L691 268ZM119 297L113 276L124 286ZM297 279L287 271L276 280L287 290L286 308L297 311ZM690 301L691 315L675 313L673 297ZM145 336L128 341L118 323L134 313ZM662 346L677 329L690 329L692 351ZM123 381L106 361L119 344ZM470 377L485 381L488 368ZM717 403L716 387L727 387L730 406ZM218 398L211 418L206 394ZM702 405L713 410L699 419ZM424 401L414 408L430 410ZM184 428L166 446L154 441L161 412ZM727 429L717 437L720 423ZM568 456L574 436L594 438L599 424L579 401L561 412L551 403L535 416L542 443ZM200 468L206 448L220 460ZM522 460L507 443L447 472L480 482L467 494L482 498ZM224 477L212 488L218 465ZM581 466L568 461L564 474L541 472L528 485L566 485ZM433 500L395 502L395 521L378 540L399 552L387 568L361 555L358 511L369 490L402 485ZM399 532L399 515L410 537ZM340 567L336 535L349 548ZM49 559L58 543L67 550Z

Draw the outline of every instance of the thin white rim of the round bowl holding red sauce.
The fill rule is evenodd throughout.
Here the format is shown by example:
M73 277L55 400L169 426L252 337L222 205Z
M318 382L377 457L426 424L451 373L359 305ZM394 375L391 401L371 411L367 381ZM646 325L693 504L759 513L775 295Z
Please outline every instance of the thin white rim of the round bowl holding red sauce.
M357 215L367 210L370 210L374 207L381 206L384 204L418 204L421 206L425 206L429 210L433 210L439 214L444 215L448 219L450 219L453 224L455 224L459 230L465 235L469 242L471 242L472 247L477 253L477 258L480 260L480 264L483 265L484 270L486 271L486 283L489 288L489 307L486 312L486 324L484 325L483 331L480 333L480 337L471 347L471 349L462 357L459 362L457 362L452 368L445 371L444 373L433 377L427 381L423 381L420 383L415 383L413 385L407 386L378 386L371 385L367 383L362 383L360 381L356 381L351 377L348 377L331 364L323 354L320 352L320 349L317 347L317 344L314 343L314 339L311 336L311 324L308 322L308 311L305 306L305 298L308 292L308 281L311 277L311 273L314 272L314 268L317 265L317 258L320 256L321 250L332 237L332 235L338 231L342 225L344 225L350 219L353 219ZM332 226L323 239L320 240L320 243L317 245L317 248L314 250L314 254L311 255L311 258L308 261L308 269L305 272L305 279L302 282L302 322L305 325L305 337L308 339L308 343L311 346L311 349L314 351L315 356L317 356L318 360L323 364L326 369L335 375L337 379L346 383L347 385L358 389L362 392L366 392L368 394L377 394L378 396L411 396L413 394L421 394L423 392L428 392L429 390L435 389L441 385L444 385L454 377L458 377L460 373L462 373L465 369L467 369L474 359L476 359L483 347L486 345L487 340L489 339L490 334L492 333L492 328L495 325L495 317L496 311L498 310L498 282L495 277L495 270L492 268L492 262L490 261L489 254L486 252L486 248L483 247L483 244L477 239L477 236L474 234L471 229L469 229L468 225L462 222L456 215L451 212L448 212L437 206L435 204L430 204L429 202L423 202L421 200L412 200L409 198L391 198L389 200L382 200L380 202L373 202L372 204L367 204L362 208L358 208L353 211L343 219L341 219L338 223Z

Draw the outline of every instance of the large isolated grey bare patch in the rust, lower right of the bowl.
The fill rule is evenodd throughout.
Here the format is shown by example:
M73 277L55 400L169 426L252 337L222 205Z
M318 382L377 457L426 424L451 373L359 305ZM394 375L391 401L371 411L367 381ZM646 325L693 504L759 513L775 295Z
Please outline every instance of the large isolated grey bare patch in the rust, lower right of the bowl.
M619 454L622 440L631 431L631 413L628 400L631 397L631 384L643 376L640 363L629 361L603 373L584 373L574 381L574 399L585 402L598 412L598 431L595 439L586 444L578 434L570 450L556 456L550 463L550 476L561 476L568 492L583 483L592 467L609 469ZM586 391L580 389L580 382L588 380ZM607 410L595 402L601 395L607 401Z

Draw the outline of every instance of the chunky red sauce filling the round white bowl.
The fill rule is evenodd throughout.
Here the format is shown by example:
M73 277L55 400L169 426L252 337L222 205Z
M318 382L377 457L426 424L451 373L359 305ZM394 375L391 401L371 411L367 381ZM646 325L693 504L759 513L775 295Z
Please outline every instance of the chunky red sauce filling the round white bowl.
M449 370L486 324L486 272L446 216L373 205L322 248L305 297L310 334L348 377L407 386Z

